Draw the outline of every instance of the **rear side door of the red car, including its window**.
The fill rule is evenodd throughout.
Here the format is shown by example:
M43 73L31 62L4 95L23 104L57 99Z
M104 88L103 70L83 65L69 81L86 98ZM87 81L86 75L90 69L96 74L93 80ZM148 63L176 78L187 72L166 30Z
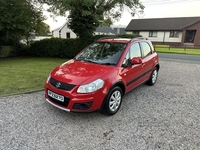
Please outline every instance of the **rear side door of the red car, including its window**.
M148 42L140 42L140 47L142 50L142 62L144 69L144 80L148 80L153 69L154 60L152 55L152 49Z

